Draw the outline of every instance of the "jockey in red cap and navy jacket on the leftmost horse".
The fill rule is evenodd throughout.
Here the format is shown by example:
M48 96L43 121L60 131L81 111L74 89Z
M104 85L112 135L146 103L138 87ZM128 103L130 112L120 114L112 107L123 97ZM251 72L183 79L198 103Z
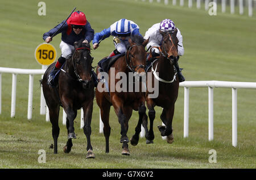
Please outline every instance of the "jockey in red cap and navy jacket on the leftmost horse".
M62 27L61 27L62 26ZM60 28L61 27L61 28ZM60 29L59 29L60 28ZM68 18L67 22L65 20L46 32L43 35L43 40L46 43L52 41L52 35L61 33L61 56L57 60L55 64L55 68L49 74L48 84L53 85L52 79L55 76L56 70L60 69L64 64L66 58L70 57L72 53L75 51L73 44L75 41L79 41L80 39L84 39L82 43L90 43L94 36L94 30L90 27L90 23L86 20L85 14L81 11L75 11Z

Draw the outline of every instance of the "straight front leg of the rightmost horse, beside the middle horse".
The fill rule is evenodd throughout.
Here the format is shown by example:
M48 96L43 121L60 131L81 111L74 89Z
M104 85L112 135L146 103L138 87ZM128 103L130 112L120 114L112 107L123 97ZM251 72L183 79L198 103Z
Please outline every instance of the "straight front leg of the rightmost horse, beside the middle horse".
M153 140L155 139L154 131L153 131L153 124L155 120L155 102L152 99L147 98L147 108L148 108L148 117L150 119L150 129L148 131L148 135L146 134L147 144L154 143Z

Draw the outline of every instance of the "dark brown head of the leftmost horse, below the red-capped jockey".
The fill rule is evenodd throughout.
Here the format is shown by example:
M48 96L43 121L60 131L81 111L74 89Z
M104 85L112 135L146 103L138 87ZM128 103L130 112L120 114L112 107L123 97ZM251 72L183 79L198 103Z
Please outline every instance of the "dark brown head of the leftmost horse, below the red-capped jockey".
M90 44L82 43L83 40L74 43L75 53L72 57L73 68L77 79L86 89L89 83L92 82L92 61L90 56Z

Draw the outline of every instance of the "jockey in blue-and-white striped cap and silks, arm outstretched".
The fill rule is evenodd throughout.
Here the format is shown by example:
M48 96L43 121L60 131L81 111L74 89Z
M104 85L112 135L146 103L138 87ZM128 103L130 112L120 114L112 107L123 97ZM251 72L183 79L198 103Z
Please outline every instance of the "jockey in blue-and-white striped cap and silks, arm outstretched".
M137 24L135 24L131 20L120 19L112 24L109 28L104 29L101 32L97 32L94 35L93 49L97 49L98 42L100 40L106 39L106 37L109 37L110 35L114 36L113 41L115 50L110 53L109 57L125 53L126 48L130 45L128 42L129 36L142 36L139 33L139 26Z

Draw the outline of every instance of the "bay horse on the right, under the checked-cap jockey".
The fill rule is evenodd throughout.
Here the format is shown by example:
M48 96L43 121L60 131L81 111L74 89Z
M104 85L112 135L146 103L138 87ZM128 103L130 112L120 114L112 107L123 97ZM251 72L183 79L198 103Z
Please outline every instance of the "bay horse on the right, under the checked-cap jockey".
M150 94L152 94L153 92L146 92L148 118L150 119L150 129L148 131L148 134L146 133L146 136L147 139L151 143L153 143L155 137L153 131L153 122L155 119L154 107L159 106L163 108L160 119L165 125L159 125L158 129L161 133L161 136L167 136L167 143L171 144L174 142L174 136L172 135L172 119L174 117L175 102L179 91L179 78L176 78L177 72L174 66L174 61L178 60L179 58L179 56L177 55L177 44L179 43L179 41L176 37L176 28L174 32L160 31L160 34L163 36L161 43L162 45L160 45L160 47L152 47L159 49L160 56L157 57L153 62L151 62L152 66L147 71L147 77L149 75L154 77L152 78L151 82L152 86L154 86L155 81L159 82L159 95L156 98L150 98ZM141 126L141 124L138 124L138 126L139 125ZM137 136L138 133L139 132L137 132Z

